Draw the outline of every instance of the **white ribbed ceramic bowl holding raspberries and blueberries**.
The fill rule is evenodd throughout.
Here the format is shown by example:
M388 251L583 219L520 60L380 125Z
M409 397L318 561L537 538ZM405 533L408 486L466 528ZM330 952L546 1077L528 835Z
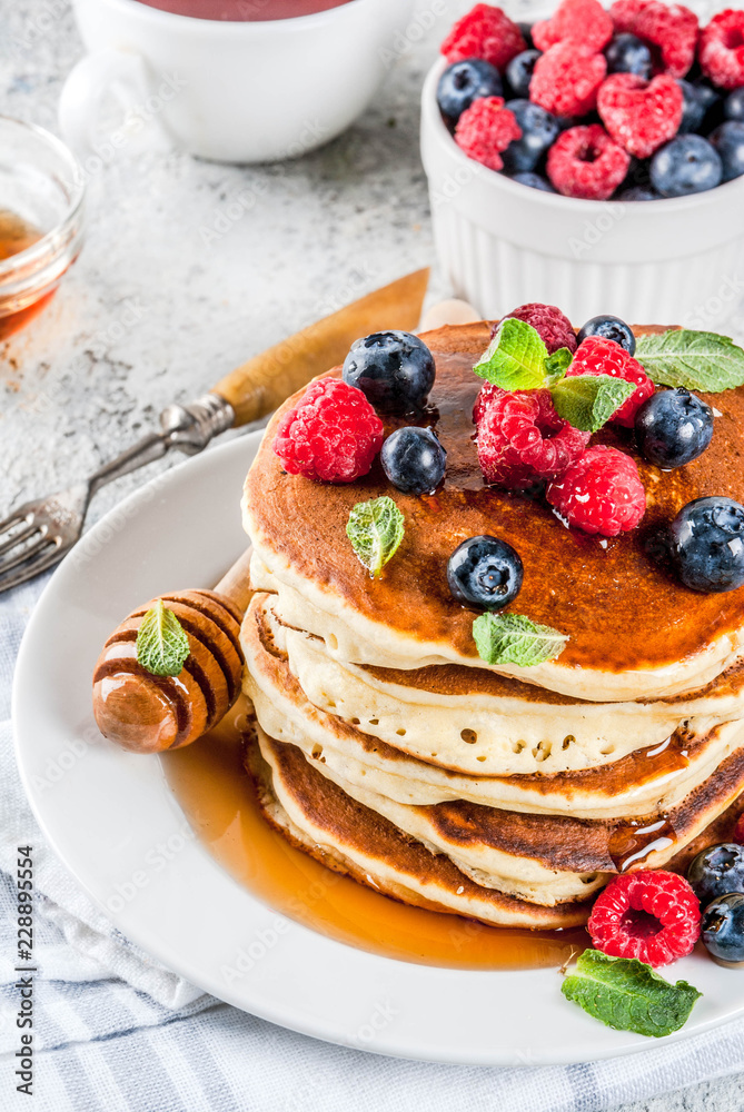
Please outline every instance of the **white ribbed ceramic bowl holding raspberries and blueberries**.
M692 197L586 201L542 192L469 159L436 102L447 66L421 95L421 158L439 264L458 297L493 319L527 301L581 325L715 329L744 296L744 177Z

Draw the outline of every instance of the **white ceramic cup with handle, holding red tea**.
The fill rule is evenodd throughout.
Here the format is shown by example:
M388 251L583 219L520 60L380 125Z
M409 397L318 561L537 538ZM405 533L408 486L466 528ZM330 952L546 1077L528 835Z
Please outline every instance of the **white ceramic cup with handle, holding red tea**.
M60 126L81 156L101 140L113 97L192 155L224 162L294 158L340 135L395 58L413 0L349 0L259 22L192 19L138 0L73 0L89 53L69 75ZM131 127L130 127L131 129Z

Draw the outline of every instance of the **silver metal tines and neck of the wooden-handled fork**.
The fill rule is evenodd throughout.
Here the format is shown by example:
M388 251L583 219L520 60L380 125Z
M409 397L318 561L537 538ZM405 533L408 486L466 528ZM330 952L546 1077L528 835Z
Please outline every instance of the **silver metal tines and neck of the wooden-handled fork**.
M0 522L0 593L46 572L69 552L80 538L90 499L107 483L161 459L170 448L196 455L234 421L232 406L218 394L168 406L160 414L160 433L150 433L87 481L19 506Z

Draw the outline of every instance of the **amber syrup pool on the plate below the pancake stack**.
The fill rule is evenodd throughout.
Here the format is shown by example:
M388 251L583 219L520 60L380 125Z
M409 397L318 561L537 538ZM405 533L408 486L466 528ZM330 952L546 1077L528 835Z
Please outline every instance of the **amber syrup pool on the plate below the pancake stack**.
M360 950L452 969L557 969L588 945L583 930L507 930L409 907L295 850L265 821L244 771L245 722L239 702L216 729L161 761L215 860L282 915Z

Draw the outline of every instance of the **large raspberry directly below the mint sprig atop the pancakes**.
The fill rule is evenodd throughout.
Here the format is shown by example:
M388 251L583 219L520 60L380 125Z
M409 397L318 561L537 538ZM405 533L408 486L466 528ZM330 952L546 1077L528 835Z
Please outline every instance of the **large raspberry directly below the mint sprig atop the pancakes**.
M578 459L589 439L588 433L558 417L548 390L510 394L487 383L473 418L486 483L509 489L559 475Z

